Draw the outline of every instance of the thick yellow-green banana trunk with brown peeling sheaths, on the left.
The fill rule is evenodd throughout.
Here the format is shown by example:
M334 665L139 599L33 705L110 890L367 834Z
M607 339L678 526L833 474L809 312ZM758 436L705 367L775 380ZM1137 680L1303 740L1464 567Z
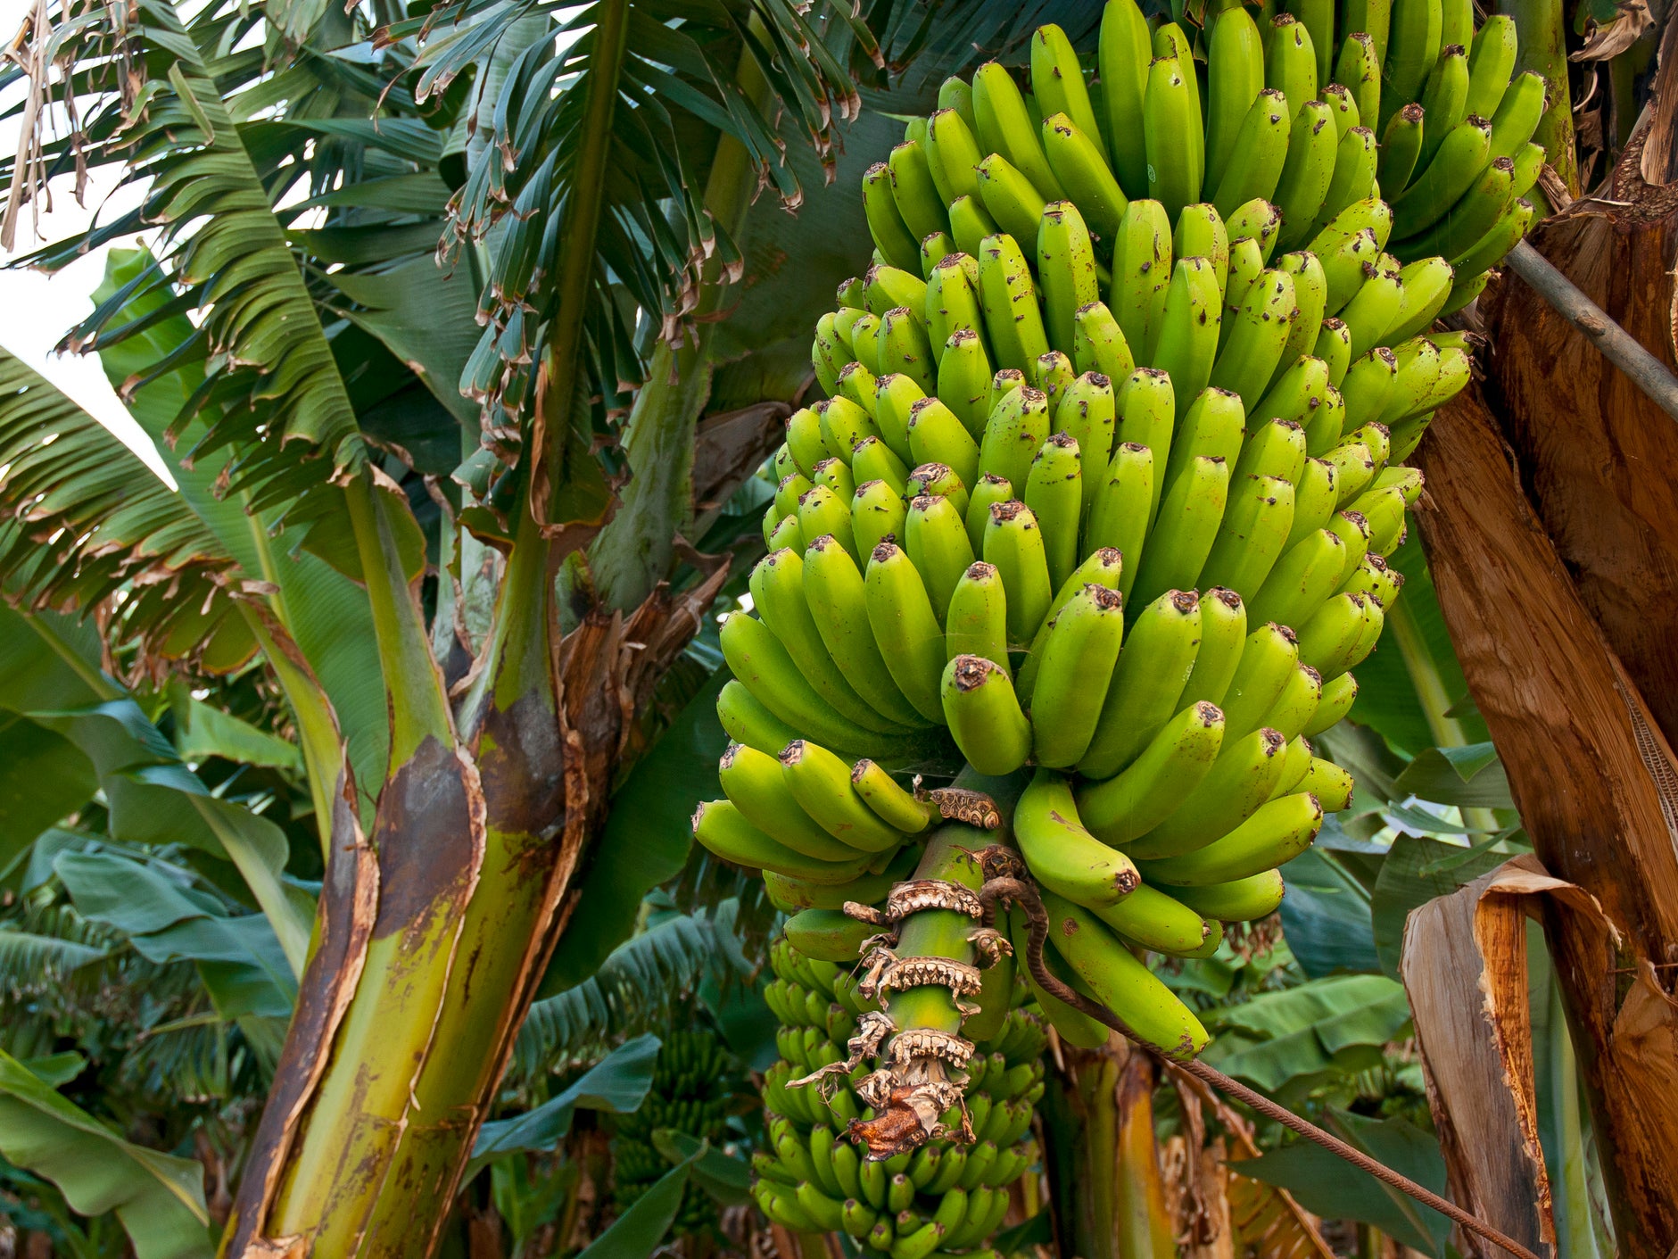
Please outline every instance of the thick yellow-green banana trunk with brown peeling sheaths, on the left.
M430 722L404 713L401 671L435 675L418 603L376 616L381 648L409 645L386 653L393 767L371 834L339 779L315 948L223 1254L433 1252L633 715L722 581L560 636L549 546L527 532L497 609L498 668L461 730L446 703L414 705Z

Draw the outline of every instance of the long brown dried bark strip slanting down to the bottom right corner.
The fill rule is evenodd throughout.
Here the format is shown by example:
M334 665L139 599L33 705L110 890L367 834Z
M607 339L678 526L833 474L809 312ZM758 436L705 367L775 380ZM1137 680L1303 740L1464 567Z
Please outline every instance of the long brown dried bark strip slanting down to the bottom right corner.
M1574 396L1566 389L1556 381L1559 406ZM1527 416L1530 430L1594 423L1549 403ZM1621 1252L1666 1259L1678 1242L1678 1002L1670 990L1678 975L1678 764L1527 500L1524 463L1478 388L1438 413L1416 463L1435 507L1418 514L1418 525L1440 606L1537 854L1550 875L1594 896L1619 933L1616 947L1601 925L1554 901L1544 913ZM1663 478L1666 468L1639 475ZM1572 524L1576 551L1594 554L1582 522Z

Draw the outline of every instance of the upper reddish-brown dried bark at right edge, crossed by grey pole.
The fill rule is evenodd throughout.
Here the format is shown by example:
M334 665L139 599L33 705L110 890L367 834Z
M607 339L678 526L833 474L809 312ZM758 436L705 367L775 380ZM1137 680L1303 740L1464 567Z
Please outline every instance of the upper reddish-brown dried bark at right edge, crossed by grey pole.
M1530 243L1668 366L1678 185L1643 180L1633 136L1601 200ZM1539 520L1584 606L1678 742L1678 421L1644 398L1517 275L1480 302L1488 394Z

